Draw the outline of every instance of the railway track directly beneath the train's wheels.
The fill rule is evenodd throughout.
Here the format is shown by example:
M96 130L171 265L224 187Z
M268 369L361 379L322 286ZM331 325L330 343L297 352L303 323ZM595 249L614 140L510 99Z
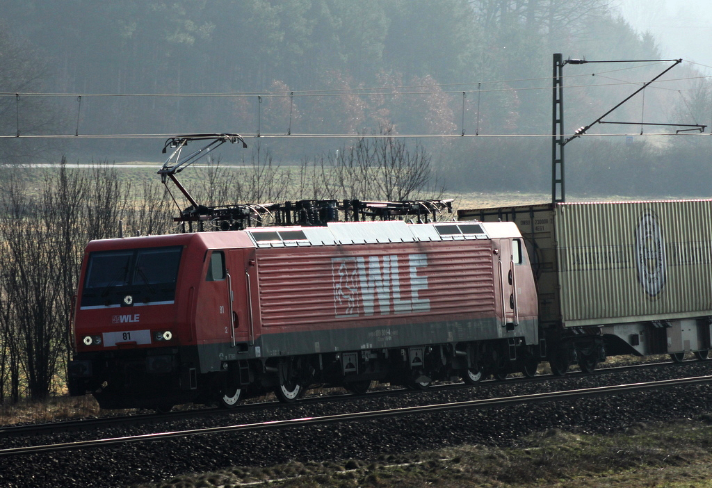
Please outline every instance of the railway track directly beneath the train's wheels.
M700 364L698 360L688 360L682 361L681 363L674 363L672 361L659 361L651 362L645 364L634 364L627 366L612 366L612 367L602 367L589 375L604 375L612 373L624 373L626 371L642 370L649 368L656 368L659 366L672 366L672 367L682 367ZM712 364L712 361L711 361ZM581 376L583 373L581 371L571 371L565 376L554 376L553 374L540 374L532 378L526 378L523 376L514 376L507 378L506 380L486 380L478 383L477 388L483 386L493 386L500 385L503 382L506 383L525 383L525 382L542 382L550 381L553 378L576 378ZM448 391L458 388L472 388L472 385L466 383L445 383L431 386L428 391ZM359 398L379 398L382 396L389 395L401 395L415 393L407 388L397 388L397 389L385 389L380 391L370 391L359 395ZM297 403L299 405L308 405L310 403L319 403L324 401L349 401L355 398L352 393L336 393L328 396L310 396L307 398L301 398ZM189 418L199 418L206 415L229 415L232 413L247 413L255 410L262 410L265 408L280 408L283 403L278 401L264 401L258 403L248 403L244 405L238 405L236 408L231 408L229 410L222 408L195 408L192 410L178 410L169 413L135 413L132 415L120 415L112 417L102 417L102 418L85 418L80 420L64 420L61 422L51 422L42 424L31 424L31 425L8 425L0 427L0 437L15 437L15 436L32 436L32 435L45 435L53 433L65 433L65 432L75 432L80 430L88 429L98 429L98 428L110 428L112 426L125 426L125 425L141 425L146 423L160 423L165 421L173 420L184 420Z

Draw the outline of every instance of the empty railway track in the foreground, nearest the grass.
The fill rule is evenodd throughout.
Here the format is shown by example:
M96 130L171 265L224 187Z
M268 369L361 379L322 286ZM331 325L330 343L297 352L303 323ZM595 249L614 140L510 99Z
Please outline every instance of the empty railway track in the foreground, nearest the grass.
M644 391L659 388L672 388L676 386L692 386L712 383L712 376L694 376L691 378L676 378L662 381L649 381L644 383L627 383L613 386L599 386L595 388L581 388L567 391L556 391L548 393L533 393L521 396L509 396L502 398L487 398L471 401L457 401L453 403L437 403L430 405L417 405L403 408L392 408L387 410L372 410L356 413L342 413L336 415L323 415L320 417L293 418L289 420L271 420L258 423L244 423L238 425L225 425L221 427L197 428L189 430L174 430L168 432L149 433L142 435L128 435L124 437L108 437L95 440L81 440L78 442L63 442L48 445L31 445L23 447L12 447L0 450L0 457L33 455L46 452L60 452L66 450L79 450L85 448L108 447L114 445L129 444L132 442L146 442L151 440L167 440L177 437L189 437L194 435L209 435L218 433L238 433L256 432L259 430L275 430L284 428L295 428L303 426L354 422L360 420L372 420L377 418L389 418L402 415L418 415L423 413L441 413L450 410L461 410L466 408L501 408L506 405L538 403L548 401L567 401L592 396L616 395L630 393L634 391Z

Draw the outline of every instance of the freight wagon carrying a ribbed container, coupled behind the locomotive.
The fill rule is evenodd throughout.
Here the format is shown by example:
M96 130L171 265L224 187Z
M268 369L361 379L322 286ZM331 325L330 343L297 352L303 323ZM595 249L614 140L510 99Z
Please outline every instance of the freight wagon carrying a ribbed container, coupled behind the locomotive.
M546 203L467 209L459 221L520 229L555 373L606 354L706 359L712 322L712 201Z

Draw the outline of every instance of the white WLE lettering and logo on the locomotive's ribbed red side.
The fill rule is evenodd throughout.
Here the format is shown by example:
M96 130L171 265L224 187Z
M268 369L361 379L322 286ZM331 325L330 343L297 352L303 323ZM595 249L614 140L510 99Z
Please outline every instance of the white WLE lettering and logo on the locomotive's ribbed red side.
M424 254L332 258L336 317L427 312L428 278L418 274L427 265Z

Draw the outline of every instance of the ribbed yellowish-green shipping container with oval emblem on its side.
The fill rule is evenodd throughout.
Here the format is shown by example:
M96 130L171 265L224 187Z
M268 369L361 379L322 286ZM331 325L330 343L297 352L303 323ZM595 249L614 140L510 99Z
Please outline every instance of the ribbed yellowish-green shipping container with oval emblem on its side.
M517 224L544 327L712 316L712 200L548 203L458 216Z

